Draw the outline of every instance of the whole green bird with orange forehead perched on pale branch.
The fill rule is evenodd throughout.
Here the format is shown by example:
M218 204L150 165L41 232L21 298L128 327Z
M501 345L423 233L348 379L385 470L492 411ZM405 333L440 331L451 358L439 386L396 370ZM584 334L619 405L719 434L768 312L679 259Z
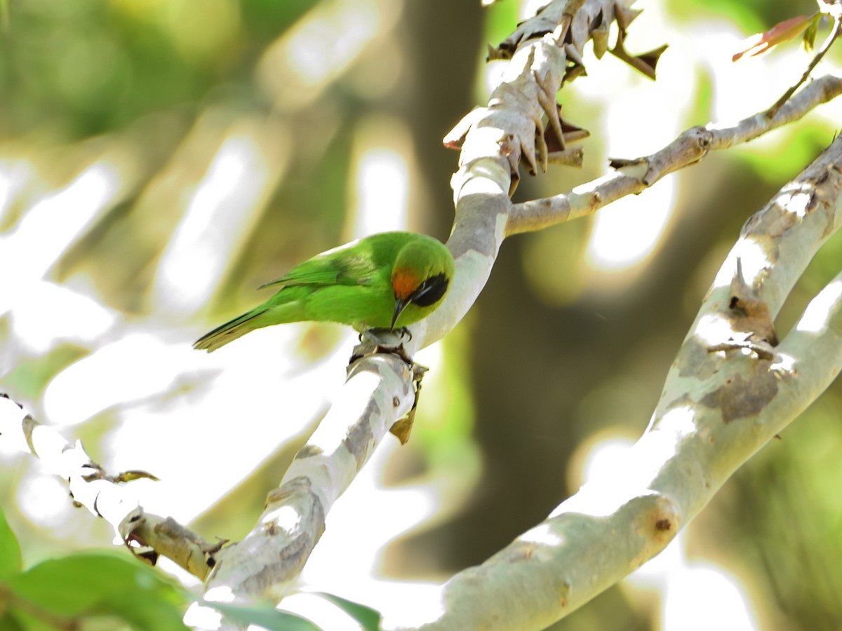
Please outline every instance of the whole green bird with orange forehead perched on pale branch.
M450 251L432 236L366 236L262 285L280 289L263 305L200 337L193 347L210 353L248 331L285 322L339 322L357 331L408 326L441 305L454 269Z

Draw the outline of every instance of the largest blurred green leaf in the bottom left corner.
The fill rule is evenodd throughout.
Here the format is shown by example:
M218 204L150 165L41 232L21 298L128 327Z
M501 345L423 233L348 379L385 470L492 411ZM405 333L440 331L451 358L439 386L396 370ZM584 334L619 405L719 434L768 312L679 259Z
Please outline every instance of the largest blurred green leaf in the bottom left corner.
M109 614L149 631L184 629L184 591L132 559L72 554L13 576L8 588L30 605L67 618Z

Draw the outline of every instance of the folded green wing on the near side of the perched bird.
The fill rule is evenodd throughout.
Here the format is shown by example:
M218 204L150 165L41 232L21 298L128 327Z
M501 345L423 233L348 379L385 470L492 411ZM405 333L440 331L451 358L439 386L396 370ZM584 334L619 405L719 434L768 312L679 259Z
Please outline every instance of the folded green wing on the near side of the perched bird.
M376 274L370 257L346 250L328 252L302 262L264 287L327 287L330 285L370 284Z

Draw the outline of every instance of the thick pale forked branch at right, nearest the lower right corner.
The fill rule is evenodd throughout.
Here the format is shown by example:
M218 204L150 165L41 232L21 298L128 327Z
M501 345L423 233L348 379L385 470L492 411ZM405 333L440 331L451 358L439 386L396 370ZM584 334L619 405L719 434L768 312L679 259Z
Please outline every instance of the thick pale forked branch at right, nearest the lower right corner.
M647 431L616 473L589 481L513 544L451 578L434 619L397 626L545 628L658 554L842 369L842 273L779 346L769 341L772 318L840 221L837 139L747 221ZM739 343L746 340L771 358Z

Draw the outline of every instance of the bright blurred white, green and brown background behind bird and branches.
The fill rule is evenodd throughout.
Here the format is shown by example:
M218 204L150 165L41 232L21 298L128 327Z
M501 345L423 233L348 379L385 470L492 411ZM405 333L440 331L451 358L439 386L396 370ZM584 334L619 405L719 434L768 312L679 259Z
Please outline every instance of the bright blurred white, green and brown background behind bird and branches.
M191 342L328 247L395 228L446 238L457 154L440 139L486 102L500 62L484 63L485 45L527 4L0 3L0 391L109 471L160 477L132 483L148 511L242 537L330 406L354 334L276 326L212 355ZM588 76L559 97L591 132L584 167L525 176L515 200L754 114L809 59L795 43L731 56L812 13L810 0L637 7L628 48L670 45L658 81L588 47ZM465 321L418 357L432 370L412 440L388 438L338 501L302 586L424 607L436 582L616 463L740 226L829 144L840 114L824 105L591 220L507 241ZM835 239L781 335L840 257ZM658 559L553 628L842 628L840 406L834 385ZM28 565L111 544L2 439L0 502ZM290 608L306 610L299 600Z

